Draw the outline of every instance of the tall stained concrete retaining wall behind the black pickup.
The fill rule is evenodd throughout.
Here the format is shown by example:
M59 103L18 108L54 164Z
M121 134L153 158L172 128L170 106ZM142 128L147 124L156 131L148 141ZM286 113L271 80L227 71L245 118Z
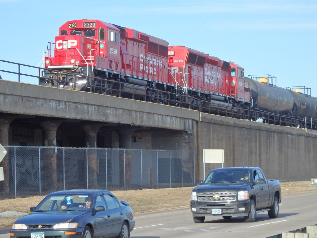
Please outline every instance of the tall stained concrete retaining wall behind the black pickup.
M224 149L224 167L258 166L268 179L310 180L317 174L317 131L201 114L199 178L203 149ZM221 164L206 164L206 175Z

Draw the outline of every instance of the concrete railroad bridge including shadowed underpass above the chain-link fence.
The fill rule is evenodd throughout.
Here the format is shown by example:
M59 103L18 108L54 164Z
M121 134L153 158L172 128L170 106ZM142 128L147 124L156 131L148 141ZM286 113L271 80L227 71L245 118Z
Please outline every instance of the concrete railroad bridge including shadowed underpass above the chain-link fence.
M119 143L130 149L133 142L144 142L138 149L195 150L196 178L204 174L203 149L224 149L225 167L259 166L281 181L310 180L317 171L316 130L0 80L2 145L114 148ZM207 164L206 171L219 166Z

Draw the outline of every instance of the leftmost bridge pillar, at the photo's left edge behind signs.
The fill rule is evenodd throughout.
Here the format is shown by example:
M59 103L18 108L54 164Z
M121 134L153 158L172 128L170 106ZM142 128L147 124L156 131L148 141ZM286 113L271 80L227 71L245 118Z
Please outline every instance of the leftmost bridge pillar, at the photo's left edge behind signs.
M0 144L3 146L9 145L9 126L14 120L14 117L0 118ZM0 163L3 167L4 180L0 181L0 192L9 192L9 153L4 156Z

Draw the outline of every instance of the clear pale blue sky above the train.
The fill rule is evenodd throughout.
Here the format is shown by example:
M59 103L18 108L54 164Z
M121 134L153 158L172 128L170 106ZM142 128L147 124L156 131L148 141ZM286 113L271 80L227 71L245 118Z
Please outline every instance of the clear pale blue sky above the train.
M38 66L63 23L99 19L235 62L246 76L276 76L283 88L306 86L317 96L316 0L0 0L0 11L1 60Z

